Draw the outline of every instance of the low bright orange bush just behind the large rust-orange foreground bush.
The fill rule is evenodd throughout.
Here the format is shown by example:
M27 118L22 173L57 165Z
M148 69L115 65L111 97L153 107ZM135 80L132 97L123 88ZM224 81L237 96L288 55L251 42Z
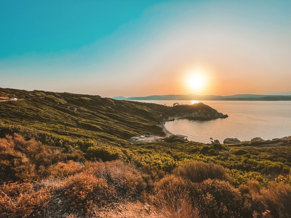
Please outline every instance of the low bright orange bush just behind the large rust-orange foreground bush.
M68 176L83 171L84 165L69 160L67 163L58 162L52 165L52 167L48 167L48 170L51 170L51 176L53 178L67 178Z

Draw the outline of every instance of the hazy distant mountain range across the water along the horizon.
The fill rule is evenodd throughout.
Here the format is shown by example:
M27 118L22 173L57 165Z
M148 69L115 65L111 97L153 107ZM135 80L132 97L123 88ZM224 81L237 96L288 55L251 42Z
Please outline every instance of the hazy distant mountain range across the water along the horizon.
M291 93L291 92L283 92ZM189 100L200 100L200 101L291 101L290 95L278 95L278 94L238 94L238 95L150 95L145 97L113 97L116 100L179 100L179 101L189 101Z

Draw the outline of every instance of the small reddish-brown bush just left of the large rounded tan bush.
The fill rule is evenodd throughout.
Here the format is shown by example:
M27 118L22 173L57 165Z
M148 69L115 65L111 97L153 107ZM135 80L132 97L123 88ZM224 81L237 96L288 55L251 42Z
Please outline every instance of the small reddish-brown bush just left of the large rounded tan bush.
M165 176L165 171L158 169L156 166L145 165L143 166L141 177L147 186L147 190L152 190L155 182L159 181Z

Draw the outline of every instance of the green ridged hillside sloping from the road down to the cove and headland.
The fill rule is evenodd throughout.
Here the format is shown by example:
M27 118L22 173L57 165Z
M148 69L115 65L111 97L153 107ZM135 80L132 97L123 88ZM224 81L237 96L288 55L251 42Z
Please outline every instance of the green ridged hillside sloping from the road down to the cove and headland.
M23 99L0 102L2 136L9 133L9 128L16 130L21 126L19 131L33 128L33 134L47 133L63 140L84 137L125 143L130 137L144 133L163 136L163 121L181 112L216 112L202 103L166 107L93 95L36 90L29 92L0 88L0 97Z

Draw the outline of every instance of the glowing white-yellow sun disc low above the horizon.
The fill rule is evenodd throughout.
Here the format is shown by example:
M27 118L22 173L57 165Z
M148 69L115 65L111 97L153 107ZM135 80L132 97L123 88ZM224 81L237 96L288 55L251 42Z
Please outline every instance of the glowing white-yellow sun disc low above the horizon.
M186 84L191 91L202 91L206 84L206 78L202 72L191 72L186 77Z

